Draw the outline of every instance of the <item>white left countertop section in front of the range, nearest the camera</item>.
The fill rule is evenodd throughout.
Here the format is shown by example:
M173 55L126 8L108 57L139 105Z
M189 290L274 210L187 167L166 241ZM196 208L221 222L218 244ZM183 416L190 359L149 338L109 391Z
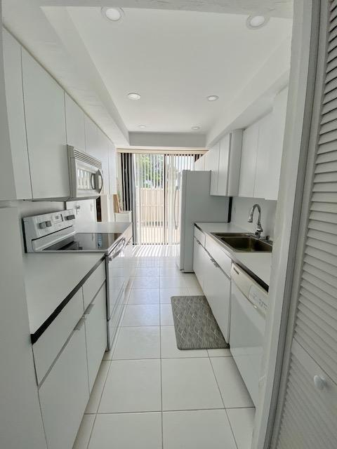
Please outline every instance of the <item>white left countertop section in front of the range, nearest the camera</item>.
M25 254L30 333L34 334L103 254Z

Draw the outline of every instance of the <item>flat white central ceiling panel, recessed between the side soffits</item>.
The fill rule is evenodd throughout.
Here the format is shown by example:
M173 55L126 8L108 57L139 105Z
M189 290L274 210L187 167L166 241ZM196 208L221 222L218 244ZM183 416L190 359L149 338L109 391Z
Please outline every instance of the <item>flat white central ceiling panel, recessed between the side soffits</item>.
M244 15L195 11L129 8L118 23L100 8L68 12L126 128L155 133L207 132L291 29L289 19L251 31Z

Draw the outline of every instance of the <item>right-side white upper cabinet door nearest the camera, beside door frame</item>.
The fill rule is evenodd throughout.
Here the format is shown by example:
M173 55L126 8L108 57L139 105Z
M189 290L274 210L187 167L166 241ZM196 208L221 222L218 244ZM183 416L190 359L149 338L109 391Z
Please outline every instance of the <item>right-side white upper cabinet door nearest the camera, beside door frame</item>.
M274 100L272 109L272 145L269 152L268 189L265 199L277 200L279 194L279 174L283 153L284 128L286 126L286 103L288 88L283 89Z

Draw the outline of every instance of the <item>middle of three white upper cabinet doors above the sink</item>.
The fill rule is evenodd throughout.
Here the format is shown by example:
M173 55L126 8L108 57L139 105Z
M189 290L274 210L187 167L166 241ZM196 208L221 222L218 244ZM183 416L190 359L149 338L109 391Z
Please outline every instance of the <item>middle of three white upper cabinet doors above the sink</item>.
M258 121L258 154L256 158L255 198L266 198L270 189L270 150L272 142L272 114Z

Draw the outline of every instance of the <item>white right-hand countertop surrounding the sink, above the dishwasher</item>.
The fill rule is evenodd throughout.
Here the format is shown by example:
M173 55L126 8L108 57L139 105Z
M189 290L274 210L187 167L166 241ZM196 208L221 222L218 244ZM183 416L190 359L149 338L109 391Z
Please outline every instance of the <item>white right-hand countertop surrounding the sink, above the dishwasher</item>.
M211 232L249 232L247 229L233 225L232 223L195 223L205 234ZM216 241L216 240L215 240ZM220 248L223 248L219 243ZM244 267L256 274L261 281L269 286L270 269L272 265L272 253L241 253L228 249L235 259Z

